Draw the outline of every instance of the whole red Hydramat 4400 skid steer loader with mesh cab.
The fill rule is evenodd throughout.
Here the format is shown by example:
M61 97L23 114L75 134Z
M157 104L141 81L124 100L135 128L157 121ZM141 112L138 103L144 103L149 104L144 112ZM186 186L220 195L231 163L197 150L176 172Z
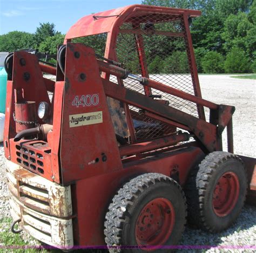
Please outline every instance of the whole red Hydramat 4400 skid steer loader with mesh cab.
M60 249L156 250L178 244L186 213L217 232L237 218L247 189L255 201L255 159L233 154L235 108L201 98L189 30L199 15L131 5L78 20L56 68L9 54L4 150L14 223ZM182 50L185 74L174 58L163 74L152 70L153 58Z

